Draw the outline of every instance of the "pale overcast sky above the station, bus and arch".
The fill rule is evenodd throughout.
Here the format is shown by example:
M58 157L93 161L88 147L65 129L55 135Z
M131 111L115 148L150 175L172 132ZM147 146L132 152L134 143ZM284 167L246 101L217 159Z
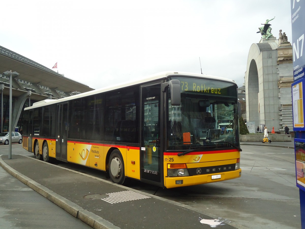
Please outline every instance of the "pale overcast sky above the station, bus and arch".
M258 27L291 42L290 0L10 0L0 45L98 89L160 71L244 83ZM14 69L9 69L14 71Z

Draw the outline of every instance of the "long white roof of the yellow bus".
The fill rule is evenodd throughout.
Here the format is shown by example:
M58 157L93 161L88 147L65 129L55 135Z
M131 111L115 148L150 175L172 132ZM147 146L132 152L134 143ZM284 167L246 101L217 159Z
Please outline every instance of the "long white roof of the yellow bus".
M107 87L104 87L104 88L101 88L101 89L95 89L93 91L84 92L84 93L81 93L81 94L61 98L61 99L58 99L58 100L51 100L51 99L42 100L42 101L34 103L33 106L31 106L31 107L24 108L24 110L28 110L28 109L31 109L31 108L34 108L34 107L41 107L41 106L48 105L48 104L57 104L57 103L60 103L60 102L69 101L71 99L77 99L77 98L82 98L82 97L85 97L85 96L91 96L91 95L95 95L95 94L98 94L98 93L112 91L112 90L115 90L115 89L124 88L124 87L132 86L132 85L142 84L142 83L151 82L151 81L155 81L155 80L166 79L168 76L172 76L172 75L195 76L195 77L199 77L199 78L214 79L214 80L220 80L220 81L230 82L230 83L236 84L236 82L234 80L231 80L231 79L228 79L228 78L212 76L212 75L205 75L205 74L198 74L198 73L191 73L191 72L180 72L180 71L179 72L177 72L177 71L164 71L164 72L159 72L159 73L156 73L156 74L153 74L153 75L149 75L145 78L141 78L141 79L137 79L137 80L133 80L133 81L128 81L128 82L123 82L123 83L119 83L119 84L116 84L116 85L110 85L110 86L107 86Z

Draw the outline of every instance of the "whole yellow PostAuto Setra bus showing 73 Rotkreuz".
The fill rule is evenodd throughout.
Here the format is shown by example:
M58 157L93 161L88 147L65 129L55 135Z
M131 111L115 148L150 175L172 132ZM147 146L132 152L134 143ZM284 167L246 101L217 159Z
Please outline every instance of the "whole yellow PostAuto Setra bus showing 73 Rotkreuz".
M188 72L146 78L24 109L23 148L37 159L84 165L173 188L241 176L233 80ZM218 123L230 119L232 132ZM41 171L43 172L43 171Z

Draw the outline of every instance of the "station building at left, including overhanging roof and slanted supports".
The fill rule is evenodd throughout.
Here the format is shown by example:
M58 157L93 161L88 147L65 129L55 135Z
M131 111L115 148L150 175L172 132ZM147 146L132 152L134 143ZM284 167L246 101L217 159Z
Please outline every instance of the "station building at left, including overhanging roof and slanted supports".
M12 131L22 132L23 109L45 99L59 99L93 90L81 82L0 46L0 131L9 130L12 78Z

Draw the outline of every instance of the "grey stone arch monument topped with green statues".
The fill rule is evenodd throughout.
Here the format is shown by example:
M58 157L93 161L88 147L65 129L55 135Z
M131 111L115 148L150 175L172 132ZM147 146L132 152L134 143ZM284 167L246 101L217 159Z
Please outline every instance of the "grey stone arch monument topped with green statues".
M270 24L265 29L270 30ZM283 133L285 125L292 131L293 82L292 45L280 30L279 39L262 31L259 43L251 45L245 73L246 117L249 124L268 127ZM282 36L282 37L281 37ZM248 125L248 123L247 123Z

